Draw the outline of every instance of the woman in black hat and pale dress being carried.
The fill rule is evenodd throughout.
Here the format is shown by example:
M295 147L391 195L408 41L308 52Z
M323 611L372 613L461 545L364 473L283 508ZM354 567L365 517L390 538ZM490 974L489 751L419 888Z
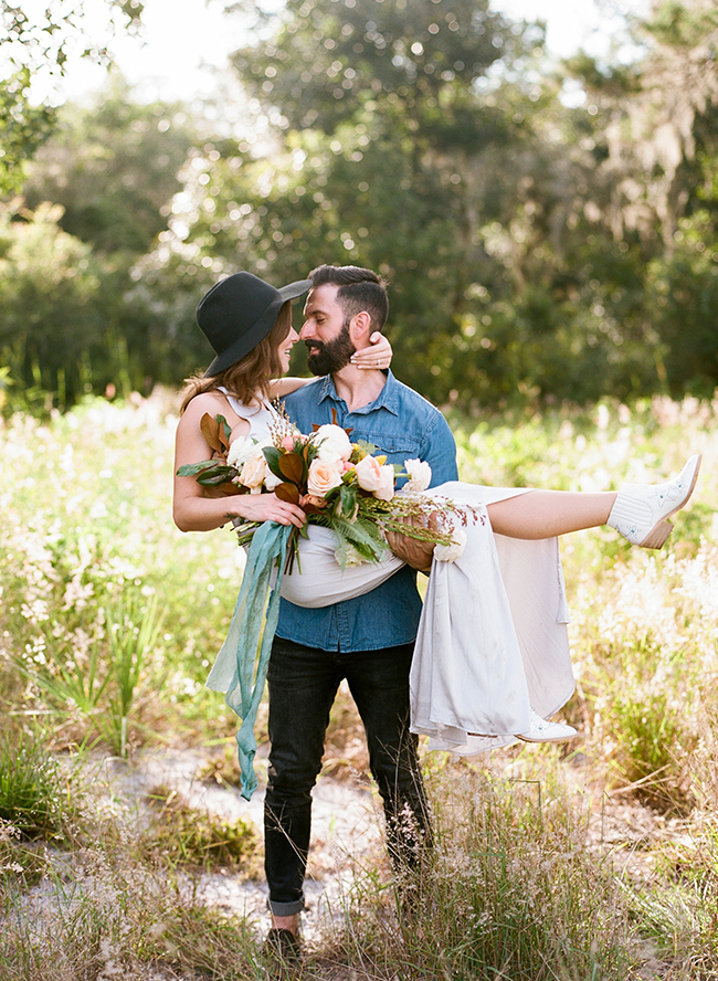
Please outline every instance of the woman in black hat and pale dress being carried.
M239 273L201 300L198 323L217 358L203 378L187 384L176 472L211 456L201 430L204 414L225 416L230 441L270 434L268 399L305 383L277 378L288 370L298 340L289 303L310 286L310 281L303 281L276 291ZM355 354L358 367L388 366L391 349L374 339L371 348ZM515 738L558 741L576 736L570 726L543 718L573 690L557 536L610 524L633 544L661 547L671 529L666 518L687 502L699 463L693 457L665 485L626 485L617 493L462 483L429 492L439 508L442 498L452 499L469 508L476 520L465 528L463 555L431 566L412 666L412 729L433 737L433 748L458 752L477 752ZM306 520L298 506L274 494L224 496L180 476L175 478L173 515L183 531L211 530L233 518L296 527ZM317 527L310 532L308 540L300 540L302 573L295 571L282 582L282 595L298 605L327 605L368 592L402 565L390 555L380 565L352 567L342 574L334 558L331 532ZM395 544L398 550L400 545ZM422 561L410 563L421 567ZM228 664L220 663L222 656L208 684L226 690Z

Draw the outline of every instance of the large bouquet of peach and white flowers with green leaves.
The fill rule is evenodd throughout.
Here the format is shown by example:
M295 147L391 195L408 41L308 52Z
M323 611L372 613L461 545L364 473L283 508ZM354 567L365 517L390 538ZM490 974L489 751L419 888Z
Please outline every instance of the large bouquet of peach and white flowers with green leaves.
M283 413L270 426L271 439L258 442L237 437L230 444L230 426L223 415L205 414L201 420L204 439L214 451L212 460L187 464L179 476L193 476L198 483L226 494L274 493L282 500L298 505L307 515L302 530L294 528L287 552L291 568L298 558L298 537L307 535L308 525L331 529L337 537L335 556L344 570L348 565L378 562L389 548L384 534L397 531L422 541L445 547L446 558L456 557L461 532L448 514L461 511L444 500L442 527L437 526L436 502L423 495L431 483L431 467L420 460L408 460L404 470L387 464L376 454L376 446L351 442L351 430L335 423L315 425L314 432L300 433ZM397 478L409 479L397 492ZM235 520L237 541L247 545L257 521Z

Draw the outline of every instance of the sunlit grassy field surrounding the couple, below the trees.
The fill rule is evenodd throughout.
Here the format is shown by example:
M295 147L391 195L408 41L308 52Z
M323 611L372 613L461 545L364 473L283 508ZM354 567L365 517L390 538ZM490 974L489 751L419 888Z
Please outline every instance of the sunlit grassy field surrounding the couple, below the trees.
M200 780L237 777L233 718L203 683L241 552L171 523L175 412L156 390L0 424L3 979L265 977L261 919L192 886L208 868L255 879L256 826L169 785L137 820L97 779L168 748L204 753ZM718 977L718 402L451 421L466 481L609 488L698 451L704 467L663 551L610 529L563 540L563 717L583 738L424 753L437 846L415 920L377 848L302 977ZM357 726L342 696L320 780L361 768Z

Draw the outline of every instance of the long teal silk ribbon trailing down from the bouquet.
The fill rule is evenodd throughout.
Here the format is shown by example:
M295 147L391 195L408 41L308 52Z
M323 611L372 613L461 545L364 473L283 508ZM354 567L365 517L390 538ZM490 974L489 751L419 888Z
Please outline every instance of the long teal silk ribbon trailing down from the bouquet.
M208 688L226 693L224 700L242 719L236 734L236 745L242 770L242 797L247 801L257 788L254 772L256 752L254 724L264 692L272 641L279 616L279 588L291 534L291 525L277 525L274 521L264 521L254 532L234 615L207 679ZM272 573L275 568L277 577L273 588ZM262 614L265 606L266 618L262 633ZM262 634L262 646L257 661L260 634Z

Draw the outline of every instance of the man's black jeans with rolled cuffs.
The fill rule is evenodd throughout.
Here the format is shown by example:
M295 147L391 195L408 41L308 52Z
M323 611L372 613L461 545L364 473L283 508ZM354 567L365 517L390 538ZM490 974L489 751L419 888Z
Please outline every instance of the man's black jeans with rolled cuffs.
M270 689L270 779L264 846L270 909L304 908L312 832L312 788L321 768L329 710L342 678L367 734L369 764L383 800L394 867L412 868L430 842L429 811L409 731L409 668L413 644L342 654L274 639Z

